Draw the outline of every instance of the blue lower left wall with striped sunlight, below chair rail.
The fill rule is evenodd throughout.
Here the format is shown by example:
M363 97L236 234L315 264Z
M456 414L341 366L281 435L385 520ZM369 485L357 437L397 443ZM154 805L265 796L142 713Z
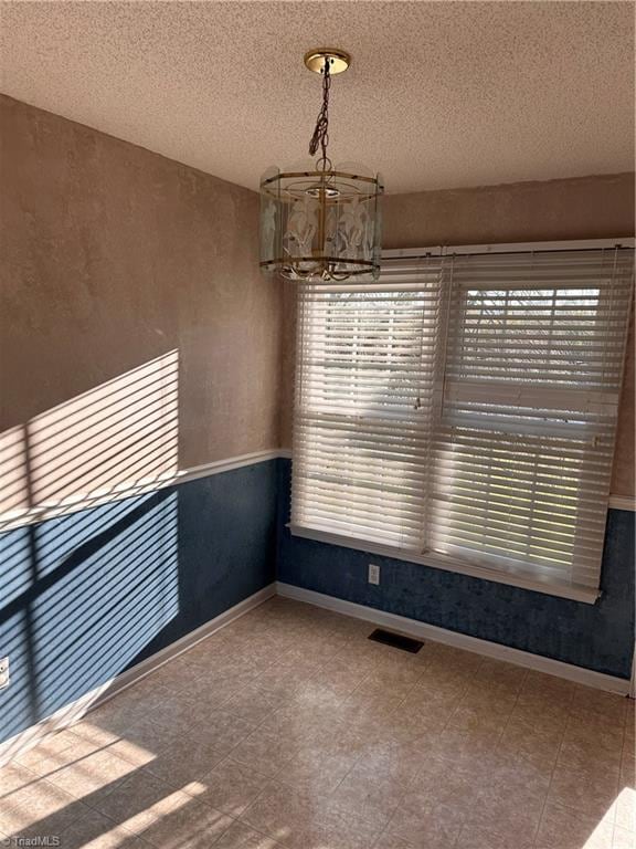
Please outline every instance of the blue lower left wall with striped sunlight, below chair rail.
M276 464L0 536L0 742L275 579Z

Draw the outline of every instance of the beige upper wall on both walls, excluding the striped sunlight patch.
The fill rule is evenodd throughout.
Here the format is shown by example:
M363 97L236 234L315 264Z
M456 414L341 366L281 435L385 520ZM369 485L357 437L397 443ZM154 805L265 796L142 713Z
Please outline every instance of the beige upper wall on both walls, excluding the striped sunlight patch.
M289 446L295 291L258 274L256 195L2 96L0 138L0 432L177 349L180 468ZM633 235L634 175L388 196L384 219L388 248Z

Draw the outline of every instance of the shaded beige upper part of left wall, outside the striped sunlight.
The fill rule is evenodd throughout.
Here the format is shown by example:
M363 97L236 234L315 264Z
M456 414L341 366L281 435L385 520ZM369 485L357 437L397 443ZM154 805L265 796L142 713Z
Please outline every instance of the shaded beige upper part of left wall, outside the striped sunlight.
M178 350L181 469L278 444L257 195L0 97L0 432Z

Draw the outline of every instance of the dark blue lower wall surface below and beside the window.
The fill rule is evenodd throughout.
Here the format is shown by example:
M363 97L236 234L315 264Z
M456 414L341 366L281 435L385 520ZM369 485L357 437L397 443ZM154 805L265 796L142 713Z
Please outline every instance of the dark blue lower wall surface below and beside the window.
M634 513L611 510L595 605L294 537L290 461L279 461L278 580L628 679L634 650ZM381 586L367 580L380 565Z

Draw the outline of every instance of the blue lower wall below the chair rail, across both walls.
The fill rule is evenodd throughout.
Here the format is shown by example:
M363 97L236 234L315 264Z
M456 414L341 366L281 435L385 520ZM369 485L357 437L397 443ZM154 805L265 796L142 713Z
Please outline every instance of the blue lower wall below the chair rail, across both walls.
M292 537L290 462L272 460L0 535L0 742L276 577L628 678L634 514L611 511L596 605ZM382 585L367 583L370 558Z

